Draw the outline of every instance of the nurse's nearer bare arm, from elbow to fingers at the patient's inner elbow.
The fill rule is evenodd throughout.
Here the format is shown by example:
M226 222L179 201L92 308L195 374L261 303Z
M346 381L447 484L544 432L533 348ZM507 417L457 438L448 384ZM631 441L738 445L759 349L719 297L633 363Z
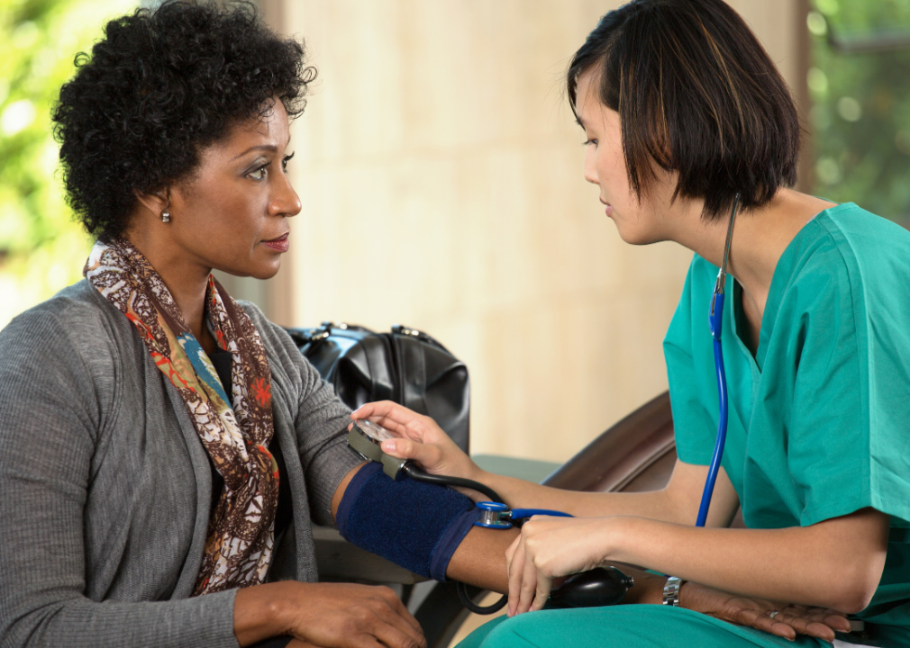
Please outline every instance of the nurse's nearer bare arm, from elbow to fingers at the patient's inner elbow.
M888 527L874 509L785 529L536 517L509 550L510 609L540 609L554 577L619 561L743 596L857 613L881 578Z

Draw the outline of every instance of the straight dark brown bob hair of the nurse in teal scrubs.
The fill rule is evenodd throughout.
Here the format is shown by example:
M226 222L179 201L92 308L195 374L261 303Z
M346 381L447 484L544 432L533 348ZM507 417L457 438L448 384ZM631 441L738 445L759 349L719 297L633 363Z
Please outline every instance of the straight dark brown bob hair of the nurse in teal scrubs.
M633 0L604 15L569 66L573 112L589 70L601 102L620 115L635 194L647 193L657 164L679 174L673 198L702 198L710 219L737 193L744 208L760 207L796 182L793 98L722 0Z

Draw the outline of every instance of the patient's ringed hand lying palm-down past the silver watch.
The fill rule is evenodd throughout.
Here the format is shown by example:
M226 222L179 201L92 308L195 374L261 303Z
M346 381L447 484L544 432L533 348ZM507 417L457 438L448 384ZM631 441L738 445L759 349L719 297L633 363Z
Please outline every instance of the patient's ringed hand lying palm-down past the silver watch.
M680 606L790 640L807 634L833 642L834 631L850 632L846 616L834 610L745 598L698 583L682 584Z

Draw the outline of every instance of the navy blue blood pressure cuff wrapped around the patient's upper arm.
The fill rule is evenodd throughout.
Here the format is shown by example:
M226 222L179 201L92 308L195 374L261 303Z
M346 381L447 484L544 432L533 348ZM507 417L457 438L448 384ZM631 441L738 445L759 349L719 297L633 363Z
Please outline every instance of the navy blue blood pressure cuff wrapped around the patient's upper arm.
M336 513L345 540L437 581L446 580L452 554L479 519L461 493L413 479L396 482L375 462L354 475Z

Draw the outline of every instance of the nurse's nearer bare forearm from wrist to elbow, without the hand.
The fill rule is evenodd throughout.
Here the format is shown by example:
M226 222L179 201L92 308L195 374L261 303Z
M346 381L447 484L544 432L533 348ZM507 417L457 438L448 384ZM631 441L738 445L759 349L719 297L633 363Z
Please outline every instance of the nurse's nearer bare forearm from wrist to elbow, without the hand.
M532 523L522 534L534 533ZM889 524L888 515L872 508L784 529L699 529L623 515L602 518L591 541L600 539L604 562L646 565L743 596L858 613L881 580Z

